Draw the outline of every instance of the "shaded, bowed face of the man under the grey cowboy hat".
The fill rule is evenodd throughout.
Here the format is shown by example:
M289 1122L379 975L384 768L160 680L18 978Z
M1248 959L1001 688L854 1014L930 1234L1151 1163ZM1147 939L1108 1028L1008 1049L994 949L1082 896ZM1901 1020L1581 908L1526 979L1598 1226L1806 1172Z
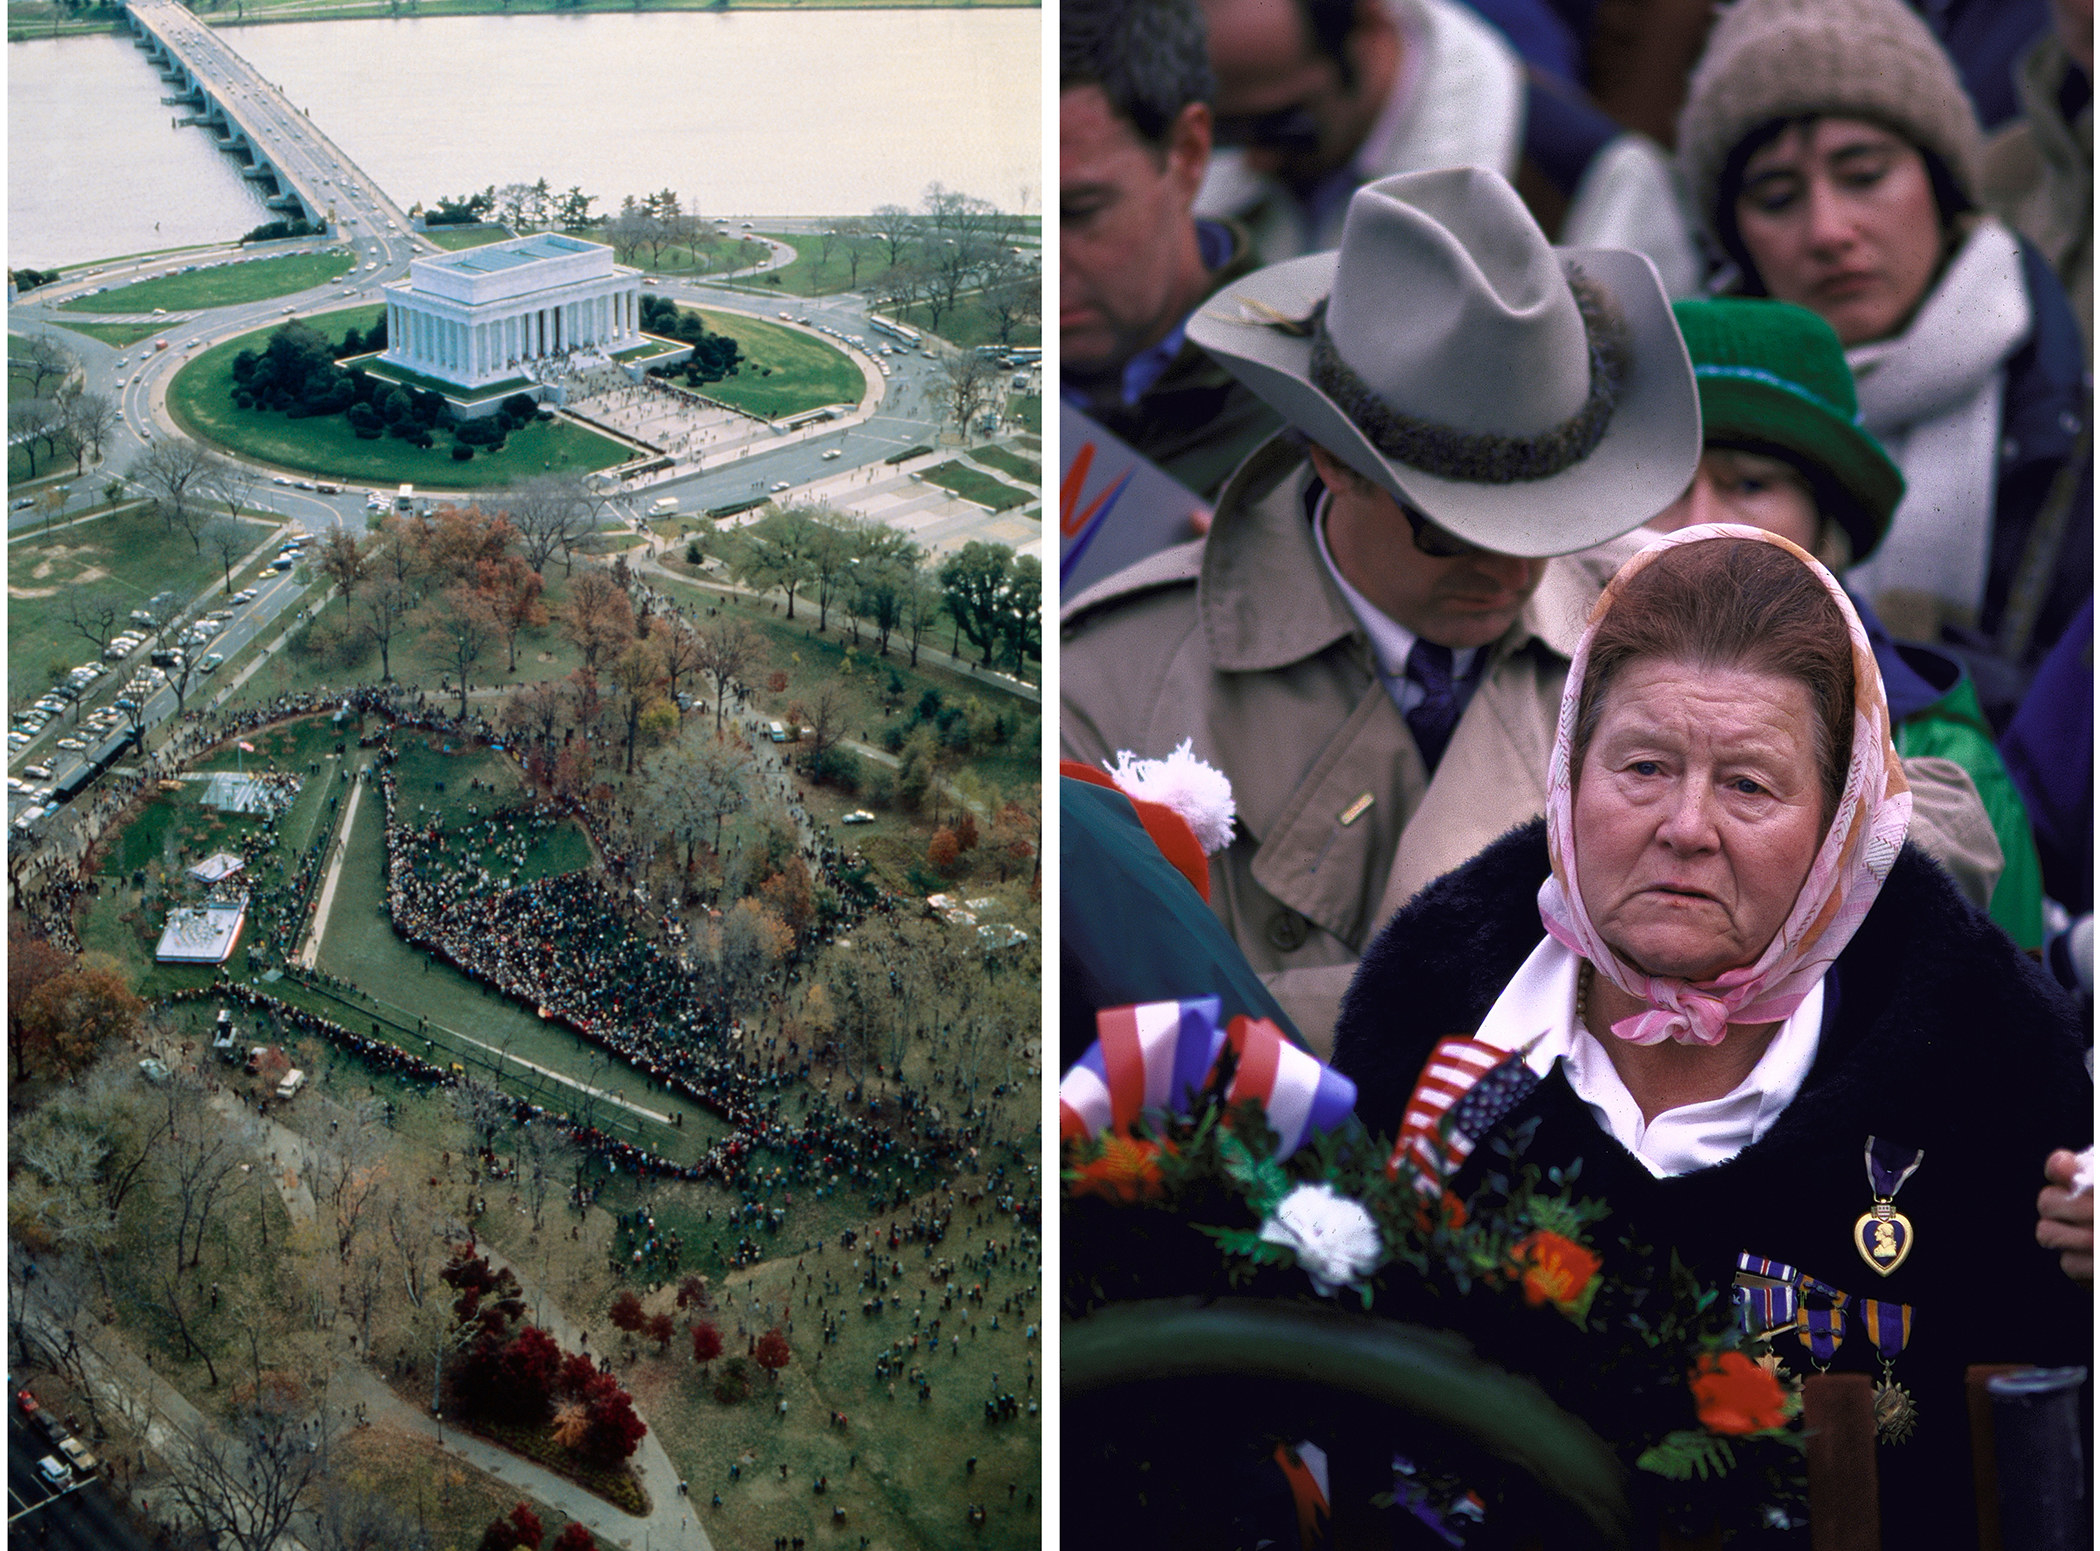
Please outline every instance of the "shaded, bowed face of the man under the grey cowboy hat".
M1394 621L1438 646L1487 646L1516 623L1546 560L1472 550L1424 554L1401 504L1323 447L1312 466L1327 485L1327 550L1348 583Z

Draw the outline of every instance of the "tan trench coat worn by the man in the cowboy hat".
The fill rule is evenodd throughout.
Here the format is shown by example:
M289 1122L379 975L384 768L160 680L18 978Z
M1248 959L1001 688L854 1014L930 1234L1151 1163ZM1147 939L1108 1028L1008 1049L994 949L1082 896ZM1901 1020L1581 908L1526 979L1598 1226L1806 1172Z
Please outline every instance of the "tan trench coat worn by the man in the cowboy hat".
M1546 812L1569 659L1625 544L1552 560L1489 661L1434 779L1319 558L1312 468L1277 437L1226 483L1208 541L1182 544L1065 607L1065 758L1157 758L1193 739L1233 781L1239 823L1212 856L1212 907L1306 1039L1325 1049L1357 959L1424 884ZM1974 890L1997 837L1968 777L1913 762L1913 837ZM1924 768L1932 766L1932 768ZM1945 770L1936 768L1945 766ZM1945 858L1945 856L1942 856Z

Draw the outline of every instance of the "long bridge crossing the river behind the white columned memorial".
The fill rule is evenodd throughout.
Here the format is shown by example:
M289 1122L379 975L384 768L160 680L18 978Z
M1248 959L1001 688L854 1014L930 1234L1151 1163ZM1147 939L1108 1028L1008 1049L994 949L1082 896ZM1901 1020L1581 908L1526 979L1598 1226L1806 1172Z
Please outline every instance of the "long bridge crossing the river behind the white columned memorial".
M162 78L170 107L189 107L220 149L248 162L246 174L271 183L267 199L330 235L380 239L414 252L407 214L351 162L304 113L174 0L128 0L132 34Z

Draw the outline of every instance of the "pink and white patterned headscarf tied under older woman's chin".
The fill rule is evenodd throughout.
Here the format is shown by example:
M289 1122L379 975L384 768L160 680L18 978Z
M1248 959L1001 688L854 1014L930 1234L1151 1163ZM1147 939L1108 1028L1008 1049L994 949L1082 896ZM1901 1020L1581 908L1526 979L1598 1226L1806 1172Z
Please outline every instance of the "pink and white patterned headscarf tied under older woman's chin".
M1756 963L1726 970L1714 980L1672 980L1648 976L1628 965L1596 934L1581 902L1575 854L1575 707L1581 703L1581 682L1590 665L1590 642L1598 621L1613 609L1625 581L1655 556L1678 544L1701 539L1756 539L1772 544L1802 565L1825 586L1852 634L1852 766L1846 770L1844 795L1831 814L1829 831L1816 850L1793 911L1772 936ZM1630 997L1648 1003L1648 1012L1623 1018L1611 1026L1619 1039L1636 1045L1657 1045L1676 1039L1680 1045L1718 1045L1728 1024L1758 1024L1787 1018L1838 959L1867 909L1882 892L1888 869L1903 850L1911 827L1911 787L1903 779L1888 726L1888 697L1882 690L1882 670L1873 646L1852 611L1838 579L1798 544L1777 533L1735 523L1703 523L1678 529L1655 548L1621 567L1606 583L1604 596L1590 611L1590 625L1575 649L1569 684L1560 695L1560 730L1554 737L1554 762L1546 783L1546 835L1554 875L1539 888L1539 917L1546 930L1573 953L1596 965L1596 972Z

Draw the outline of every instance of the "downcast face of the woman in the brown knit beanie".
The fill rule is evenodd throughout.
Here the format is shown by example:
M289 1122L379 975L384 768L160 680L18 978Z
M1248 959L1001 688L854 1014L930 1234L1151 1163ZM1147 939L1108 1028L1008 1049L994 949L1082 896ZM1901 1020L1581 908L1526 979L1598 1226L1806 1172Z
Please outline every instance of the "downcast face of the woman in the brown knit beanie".
M1848 348L1898 334L1940 262L1926 160L1861 120L1781 132L1749 157L1735 220L1764 288L1819 313Z

